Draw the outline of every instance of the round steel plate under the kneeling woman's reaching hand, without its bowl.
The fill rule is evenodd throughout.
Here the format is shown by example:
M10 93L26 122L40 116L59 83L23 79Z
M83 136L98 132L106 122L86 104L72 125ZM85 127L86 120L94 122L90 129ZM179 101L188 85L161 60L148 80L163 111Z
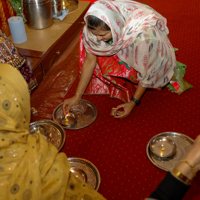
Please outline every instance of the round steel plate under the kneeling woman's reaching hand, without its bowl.
M63 103L58 105L53 111L53 120L57 123L60 122L60 117L64 115L62 105ZM65 129L76 130L85 128L92 124L97 118L98 111L93 103L81 99L78 105L75 105L70 109L70 113L73 113L76 116L77 123L72 127L67 127L63 125L61 126Z

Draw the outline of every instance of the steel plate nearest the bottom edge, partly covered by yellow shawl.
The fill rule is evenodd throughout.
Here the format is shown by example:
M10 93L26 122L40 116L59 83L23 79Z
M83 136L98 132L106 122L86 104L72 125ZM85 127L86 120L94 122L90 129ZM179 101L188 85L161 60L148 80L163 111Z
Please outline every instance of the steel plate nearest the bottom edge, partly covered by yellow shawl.
M98 191L101 178L98 169L93 163L83 158L68 158L71 173Z

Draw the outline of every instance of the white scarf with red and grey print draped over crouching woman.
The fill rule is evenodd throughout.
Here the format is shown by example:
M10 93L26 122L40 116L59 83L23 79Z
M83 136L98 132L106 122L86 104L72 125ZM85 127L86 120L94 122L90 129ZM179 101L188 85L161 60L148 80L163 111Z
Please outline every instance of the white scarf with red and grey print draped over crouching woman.
M111 29L113 43L98 41L87 28L86 17L96 16ZM97 1L85 17L83 44L97 56L117 55L138 72L137 80L147 88L165 86L176 69L166 19L147 5L135 1Z

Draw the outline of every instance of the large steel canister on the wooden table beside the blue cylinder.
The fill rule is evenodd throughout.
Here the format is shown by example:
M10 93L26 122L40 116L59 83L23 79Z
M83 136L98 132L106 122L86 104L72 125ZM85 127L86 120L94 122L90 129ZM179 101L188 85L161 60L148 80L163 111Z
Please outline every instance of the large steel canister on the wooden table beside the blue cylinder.
M50 0L23 0L27 25L32 29L44 29L53 24Z

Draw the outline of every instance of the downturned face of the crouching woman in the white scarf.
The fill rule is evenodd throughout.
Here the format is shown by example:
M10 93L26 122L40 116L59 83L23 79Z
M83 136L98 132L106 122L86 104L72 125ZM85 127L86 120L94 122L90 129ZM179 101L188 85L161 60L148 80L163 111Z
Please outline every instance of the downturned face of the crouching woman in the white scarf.
M109 42L112 39L112 33L111 31L105 31L102 30L101 28L96 28L95 30L91 30L93 35L97 36L97 40L104 41L104 42Z

